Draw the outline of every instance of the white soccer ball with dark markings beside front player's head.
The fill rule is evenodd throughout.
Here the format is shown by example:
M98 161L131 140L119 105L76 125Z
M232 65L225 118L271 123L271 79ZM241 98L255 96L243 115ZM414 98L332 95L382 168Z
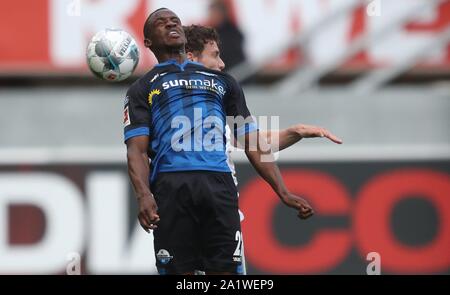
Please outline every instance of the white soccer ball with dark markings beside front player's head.
M123 81L139 62L139 48L130 34L105 29L92 37L87 47L87 64L92 73L107 81Z

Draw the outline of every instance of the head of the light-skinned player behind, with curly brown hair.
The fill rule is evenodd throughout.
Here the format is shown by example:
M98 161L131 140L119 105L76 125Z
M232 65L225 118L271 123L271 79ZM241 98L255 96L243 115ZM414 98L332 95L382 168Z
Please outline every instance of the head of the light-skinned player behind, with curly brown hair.
M225 64L220 58L219 35L215 29L197 25L184 26L183 29L187 39L188 59L216 71L225 68Z

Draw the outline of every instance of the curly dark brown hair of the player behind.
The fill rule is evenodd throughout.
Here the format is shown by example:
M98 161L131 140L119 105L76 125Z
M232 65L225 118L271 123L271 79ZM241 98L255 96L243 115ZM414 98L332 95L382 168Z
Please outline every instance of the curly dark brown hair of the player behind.
M205 26L183 26L184 34L186 35L186 52L201 53L205 49L205 44L211 41L220 45L219 34L214 28Z

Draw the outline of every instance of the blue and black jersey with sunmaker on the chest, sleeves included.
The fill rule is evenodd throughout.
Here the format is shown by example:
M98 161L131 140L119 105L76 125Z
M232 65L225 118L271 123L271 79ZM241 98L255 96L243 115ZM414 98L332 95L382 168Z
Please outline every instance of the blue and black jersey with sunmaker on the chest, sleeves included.
M156 65L127 92L125 141L149 136L155 180L159 172L230 172L225 151L226 120L235 136L257 129L239 84L199 63L175 60Z

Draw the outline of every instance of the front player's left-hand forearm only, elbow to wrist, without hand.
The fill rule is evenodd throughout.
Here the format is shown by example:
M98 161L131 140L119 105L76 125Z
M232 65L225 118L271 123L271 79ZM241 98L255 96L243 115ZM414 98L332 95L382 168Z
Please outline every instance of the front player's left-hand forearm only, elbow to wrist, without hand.
M151 196L148 177L149 177L149 162L146 153L138 151L128 151L128 175L136 193L136 198Z

